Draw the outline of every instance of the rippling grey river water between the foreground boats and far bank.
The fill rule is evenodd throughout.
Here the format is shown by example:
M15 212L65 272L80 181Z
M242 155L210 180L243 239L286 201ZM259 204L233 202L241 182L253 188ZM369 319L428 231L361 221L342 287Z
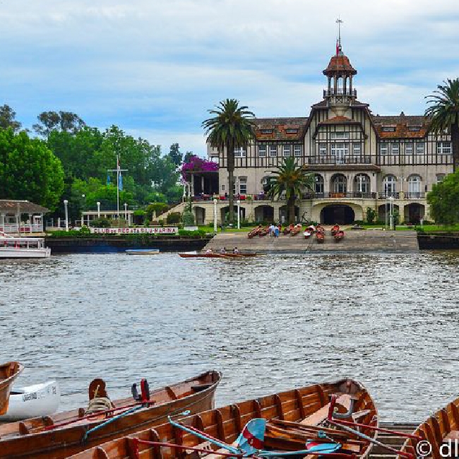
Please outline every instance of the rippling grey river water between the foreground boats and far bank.
M0 361L111 398L222 371L217 404L351 376L383 421L417 422L459 394L459 255L183 259L72 254L0 261Z

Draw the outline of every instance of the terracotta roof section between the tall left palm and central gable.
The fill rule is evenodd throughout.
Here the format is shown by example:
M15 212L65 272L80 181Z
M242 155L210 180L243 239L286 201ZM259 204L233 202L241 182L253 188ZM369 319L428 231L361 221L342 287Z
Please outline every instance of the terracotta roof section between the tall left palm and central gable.
M308 118L256 118L254 121L257 141L301 141L306 133ZM272 132L263 132L268 130Z

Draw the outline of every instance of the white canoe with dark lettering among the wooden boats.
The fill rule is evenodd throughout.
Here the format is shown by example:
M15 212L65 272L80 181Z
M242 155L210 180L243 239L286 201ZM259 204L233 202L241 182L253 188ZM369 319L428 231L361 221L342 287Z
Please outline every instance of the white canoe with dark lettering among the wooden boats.
M29 417L52 415L59 407L61 390L56 381L13 388L6 415L0 422L20 421Z

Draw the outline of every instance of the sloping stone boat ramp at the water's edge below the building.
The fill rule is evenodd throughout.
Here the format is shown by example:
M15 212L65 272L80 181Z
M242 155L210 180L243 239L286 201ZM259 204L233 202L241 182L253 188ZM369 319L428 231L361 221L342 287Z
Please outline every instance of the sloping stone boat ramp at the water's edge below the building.
M326 238L323 244L318 244L313 235L304 239L303 232L291 237L254 237L249 239L246 232L221 232L211 239L205 249L214 251L226 247L232 250L237 247L240 251L256 251L264 254L417 254L419 246L417 233L407 231L384 231L383 229L346 229L345 238L340 242L330 234L326 228Z

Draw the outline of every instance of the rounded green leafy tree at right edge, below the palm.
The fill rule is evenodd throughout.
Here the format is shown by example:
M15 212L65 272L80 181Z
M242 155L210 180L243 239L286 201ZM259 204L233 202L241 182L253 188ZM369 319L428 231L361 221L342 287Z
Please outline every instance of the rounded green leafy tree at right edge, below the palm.
M459 222L459 170L449 174L427 193L429 213L437 223Z

